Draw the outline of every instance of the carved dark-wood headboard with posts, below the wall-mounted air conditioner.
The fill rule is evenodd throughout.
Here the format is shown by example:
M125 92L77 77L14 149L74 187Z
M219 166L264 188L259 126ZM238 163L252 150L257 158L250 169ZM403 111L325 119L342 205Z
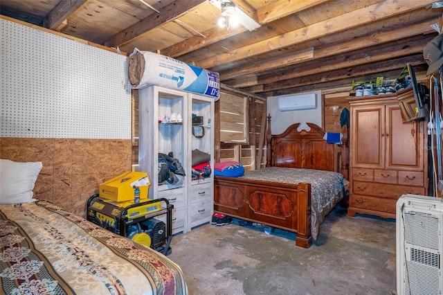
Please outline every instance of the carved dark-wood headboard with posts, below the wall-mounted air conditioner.
M347 125L342 127L342 142L327 143L325 131L314 123L310 130L298 131L300 123L287 127L281 134L271 135L271 116L266 128L266 167L306 168L341 172L349 179L349 145Z

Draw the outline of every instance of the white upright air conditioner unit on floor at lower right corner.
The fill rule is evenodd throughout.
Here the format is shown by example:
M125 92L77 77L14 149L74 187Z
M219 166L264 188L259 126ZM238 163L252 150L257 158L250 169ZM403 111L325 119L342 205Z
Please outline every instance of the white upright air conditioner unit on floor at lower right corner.
M443 294L443 199L402 195L397 201L397 294Z

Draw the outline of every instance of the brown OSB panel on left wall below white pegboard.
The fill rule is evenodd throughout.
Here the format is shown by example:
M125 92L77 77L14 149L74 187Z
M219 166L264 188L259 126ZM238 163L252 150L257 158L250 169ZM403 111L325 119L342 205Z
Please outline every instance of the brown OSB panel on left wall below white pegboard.
M84 216L103 181L131 171L131 145L130 139L0 138L0 157L42 161L35 198Z

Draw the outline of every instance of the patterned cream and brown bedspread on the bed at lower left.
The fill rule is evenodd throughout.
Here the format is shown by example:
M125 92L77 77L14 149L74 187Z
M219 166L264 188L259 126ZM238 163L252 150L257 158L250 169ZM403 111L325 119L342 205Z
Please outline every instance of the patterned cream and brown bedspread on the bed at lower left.
M187 294L163 254L44 201L0 206L6 294Z

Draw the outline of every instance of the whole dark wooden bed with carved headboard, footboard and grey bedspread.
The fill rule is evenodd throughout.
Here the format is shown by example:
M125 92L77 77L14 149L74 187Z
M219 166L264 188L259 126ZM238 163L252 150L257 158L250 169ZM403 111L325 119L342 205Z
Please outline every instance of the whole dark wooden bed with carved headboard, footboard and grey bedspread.
M312 123L307 123L309 131L298 132L296 123L271 136L268 121L266 166L273 167L244 177L215 177L214 210L297 233L296 245L308 248L325 216L345 196L347 127L343 126L343 144L336 145L327 143L325 132Z

